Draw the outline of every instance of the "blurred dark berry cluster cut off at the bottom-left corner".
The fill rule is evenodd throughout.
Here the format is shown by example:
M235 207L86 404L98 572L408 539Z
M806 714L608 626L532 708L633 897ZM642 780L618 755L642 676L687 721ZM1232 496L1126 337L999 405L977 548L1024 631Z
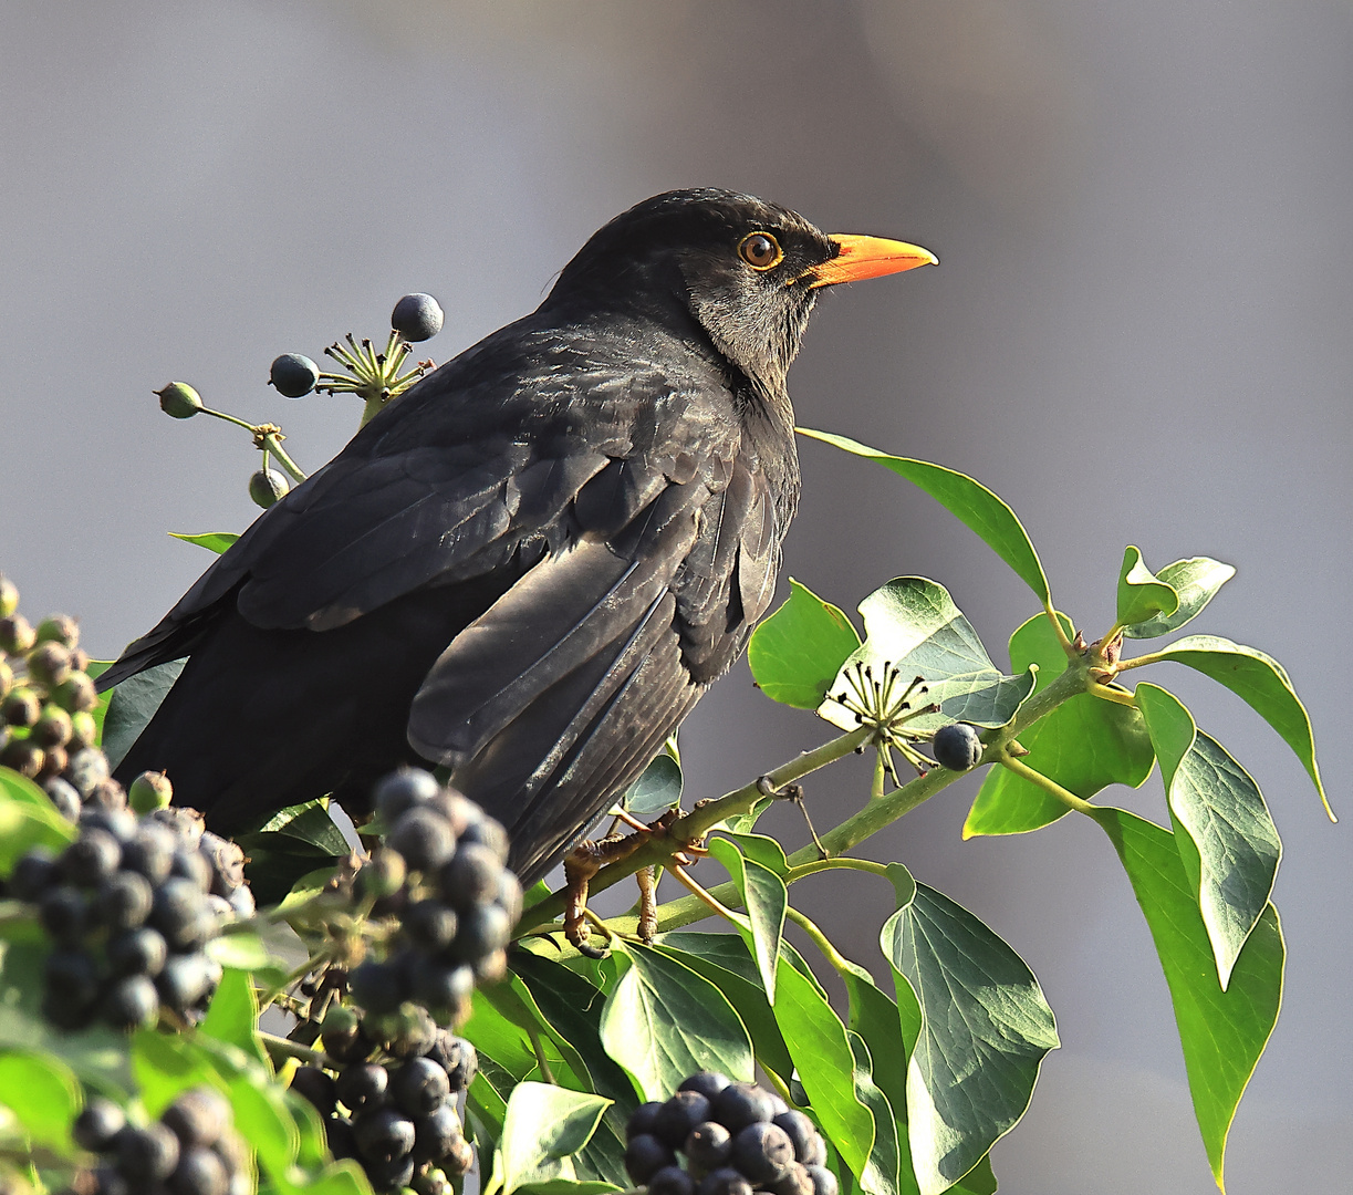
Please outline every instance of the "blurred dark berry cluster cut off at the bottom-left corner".
M143 1129L127 1123L115 1103L91 1099L76 1118L76 1144L99 1154L91 1175L73 1190L81 1195L248 1195L253 1191L249 1152L231 1125L230 1104L218 1091L185 1091Z

